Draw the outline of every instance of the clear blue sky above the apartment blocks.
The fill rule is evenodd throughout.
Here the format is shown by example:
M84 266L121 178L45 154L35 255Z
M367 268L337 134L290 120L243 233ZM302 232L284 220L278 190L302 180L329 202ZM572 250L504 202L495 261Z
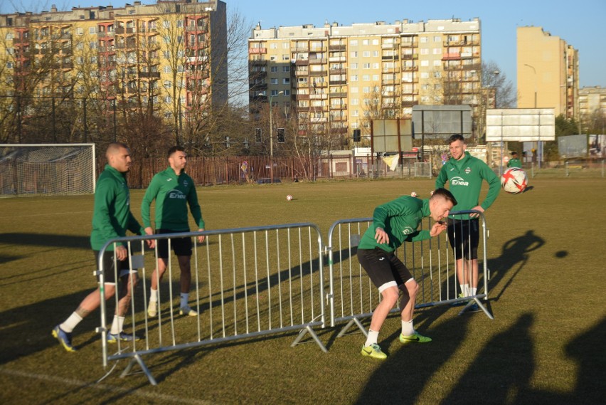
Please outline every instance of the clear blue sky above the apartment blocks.
M482 27L482 60L494 62L501 74L516 85L516 28L540 26L579 51L581 87L606 88L606 0L224 0L228 13L237 12L252 26L261 28L324 23L373 23L396 20L427 21L478 17ZM0 14L14 11L48 11L72 7L121 7L128 0L0 0ZM142 4L154 4L142 0Z

